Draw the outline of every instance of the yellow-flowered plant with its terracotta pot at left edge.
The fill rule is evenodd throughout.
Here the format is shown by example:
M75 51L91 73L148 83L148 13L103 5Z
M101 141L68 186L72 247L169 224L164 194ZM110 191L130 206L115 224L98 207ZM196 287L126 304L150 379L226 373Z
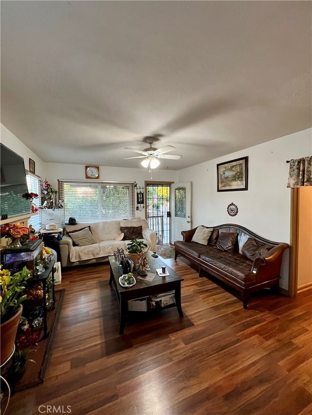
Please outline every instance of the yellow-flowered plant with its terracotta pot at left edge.
M31 277L26 267L11 275L0 266L0 347L1 364L8 360L14 351L15 337L22 312L21 303L26 299L23 290Z

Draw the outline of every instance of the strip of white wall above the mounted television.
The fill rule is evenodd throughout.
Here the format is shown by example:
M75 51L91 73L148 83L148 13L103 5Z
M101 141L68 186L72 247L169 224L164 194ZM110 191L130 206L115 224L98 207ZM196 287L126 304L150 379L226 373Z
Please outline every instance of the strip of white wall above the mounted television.
M1 124L0 142L24 159L25 169L29 170L29 159L35 162L35 174L42 177L44 172L44 162L23 144L15 135Z

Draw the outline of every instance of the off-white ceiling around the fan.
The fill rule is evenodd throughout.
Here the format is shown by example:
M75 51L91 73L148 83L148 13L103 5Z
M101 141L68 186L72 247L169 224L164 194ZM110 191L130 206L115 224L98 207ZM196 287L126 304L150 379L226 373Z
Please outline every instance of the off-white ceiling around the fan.
M170 170L312 126L311 1L1 1L1 123L44 162Z

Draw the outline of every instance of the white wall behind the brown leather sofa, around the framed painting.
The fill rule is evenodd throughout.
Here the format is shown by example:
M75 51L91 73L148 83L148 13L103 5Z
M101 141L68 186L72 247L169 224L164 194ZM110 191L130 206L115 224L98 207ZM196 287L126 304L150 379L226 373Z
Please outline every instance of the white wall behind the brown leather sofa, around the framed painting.
M312 154L312 128L290 134L243 151L178 171L178 181L193 183L193 228L222 223L242 225L278 242L290 241L291 189L287 188L286 160ZM248 190L217 192L216 164L248 156ZM231 217L227 206L235 203ZM288 289L288 252L282 264L281 287Z

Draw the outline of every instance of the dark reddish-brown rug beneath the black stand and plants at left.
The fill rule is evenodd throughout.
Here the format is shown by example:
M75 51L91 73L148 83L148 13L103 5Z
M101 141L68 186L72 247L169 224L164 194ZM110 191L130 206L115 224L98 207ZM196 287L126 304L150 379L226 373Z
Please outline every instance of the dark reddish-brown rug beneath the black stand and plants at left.
M13 393L22 391L43 382L50 360L64 292L64 289L55 291L55 308L47 313L49 336L47 339L40 340L38 346L36 346L36 350L27 355L28 361L25 366L26 371L15 387L13 386ZM30 359L32 361L30 361Z

